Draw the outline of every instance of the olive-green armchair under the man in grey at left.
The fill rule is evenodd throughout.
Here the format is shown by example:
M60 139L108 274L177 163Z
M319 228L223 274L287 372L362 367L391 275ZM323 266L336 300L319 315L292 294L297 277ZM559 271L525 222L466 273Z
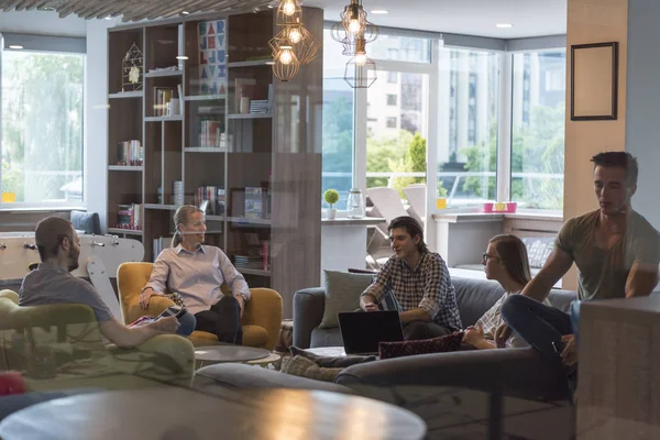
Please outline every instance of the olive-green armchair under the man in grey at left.
M120 349L103 342L88 306L20 307L14 292L0 292L0 370L23 372L30 389L190 385L195 353L185 338L161 334L134 349ZM18 341L23 342L16 345ZM80 362L62 360L75 352L88 355Z

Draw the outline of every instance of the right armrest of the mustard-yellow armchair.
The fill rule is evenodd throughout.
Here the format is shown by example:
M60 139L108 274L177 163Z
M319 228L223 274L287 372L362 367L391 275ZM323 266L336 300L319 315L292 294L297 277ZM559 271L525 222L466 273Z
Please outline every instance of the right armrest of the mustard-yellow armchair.
M252 298L245 304L242 326L260 326L268 332L264 348L273 350L279 339L282 327L282 296L268 288L251 288Z

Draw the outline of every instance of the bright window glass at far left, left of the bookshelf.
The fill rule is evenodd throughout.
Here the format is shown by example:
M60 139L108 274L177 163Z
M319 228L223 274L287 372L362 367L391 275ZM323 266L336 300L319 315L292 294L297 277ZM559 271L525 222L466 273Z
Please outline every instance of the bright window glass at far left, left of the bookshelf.
M2 207L81 206L85 55L4 51Z

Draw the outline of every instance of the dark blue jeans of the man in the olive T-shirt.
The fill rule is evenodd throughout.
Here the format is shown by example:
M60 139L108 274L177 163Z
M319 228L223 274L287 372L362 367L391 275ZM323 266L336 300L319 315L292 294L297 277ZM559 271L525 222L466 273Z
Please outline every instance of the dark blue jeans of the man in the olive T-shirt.
M573 333L569 314L522 295L509 296L501 312L513 331L554 365L562 366L561 337Z

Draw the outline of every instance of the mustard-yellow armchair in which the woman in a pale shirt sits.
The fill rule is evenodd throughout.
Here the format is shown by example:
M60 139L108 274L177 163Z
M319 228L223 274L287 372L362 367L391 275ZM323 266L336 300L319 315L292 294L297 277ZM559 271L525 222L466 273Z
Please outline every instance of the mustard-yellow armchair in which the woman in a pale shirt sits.
M124 323L129 324L138 318L148 315L157 316L173 302L161 296L153 296L148 307L140 307L140 292L148 283L152 263L123 263L117 271L119 304ZM227 294L227 286L222 286ZM273 289L251 288L252 299L245 304L241 324L243 327L243 345L273 350L279 338L282 327L282 297ZM194 331L190 334L194 345L212 345L218 343L216 334Z

